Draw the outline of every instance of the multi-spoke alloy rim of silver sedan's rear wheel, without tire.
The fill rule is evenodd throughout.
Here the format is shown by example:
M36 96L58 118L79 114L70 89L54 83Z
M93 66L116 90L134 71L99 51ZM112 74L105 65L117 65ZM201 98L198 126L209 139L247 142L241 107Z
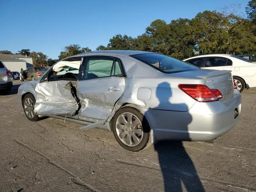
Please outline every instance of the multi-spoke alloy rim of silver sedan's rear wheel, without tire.
M116 120L116 133L127 146L136 146L143 137L142 124L134 114L123 113Z

